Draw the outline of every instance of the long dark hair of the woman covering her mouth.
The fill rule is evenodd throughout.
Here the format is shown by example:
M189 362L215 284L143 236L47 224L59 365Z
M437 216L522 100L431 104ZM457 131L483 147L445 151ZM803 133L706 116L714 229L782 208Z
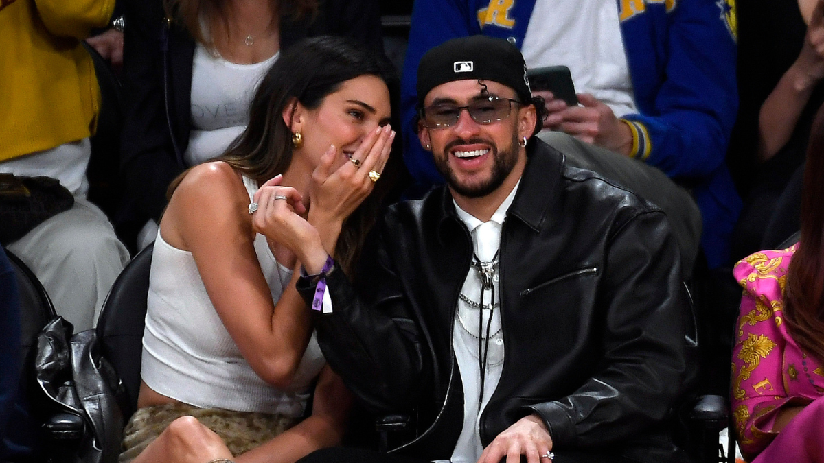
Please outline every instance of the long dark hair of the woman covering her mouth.
M335 36L315 37L293 45L281 54L260 82L250 106L246 130L216 161L226 162L258 185L283 174L292 163L293 154L292 130L283 121L283 110L295 100L307 110L314 110L344 82L363 75L381 77L391 94L396 93L398 79L391 63L363 45ZM386 169L391 170L395 165L387 162ZM185 174L170 185L170 197ZM384 179L344 222L335 259L345 270L352 269L393 175L385 170Z

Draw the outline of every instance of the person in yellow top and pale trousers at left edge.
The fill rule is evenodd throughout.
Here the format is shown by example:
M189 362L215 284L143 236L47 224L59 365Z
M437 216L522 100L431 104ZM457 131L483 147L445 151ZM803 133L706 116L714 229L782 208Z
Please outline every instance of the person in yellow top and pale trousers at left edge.
M25 214L18 227L12 227L18 221L3 223L25 232L3 245L43 283L75 331L96 325L129 263L108 217L87 199L101 92L81 40L105 25L114 7L114 0L0 0L0 173L51 177L73 197L40 223ZM31 195L30 210L49 210L58 202L54 196L49 190Z

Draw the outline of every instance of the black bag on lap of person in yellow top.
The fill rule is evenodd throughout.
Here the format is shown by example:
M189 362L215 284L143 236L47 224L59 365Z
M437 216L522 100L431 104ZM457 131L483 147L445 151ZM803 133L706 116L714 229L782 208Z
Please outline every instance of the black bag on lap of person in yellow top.
M74 196L51 177L0 174L0 243L7 245L74 205Z

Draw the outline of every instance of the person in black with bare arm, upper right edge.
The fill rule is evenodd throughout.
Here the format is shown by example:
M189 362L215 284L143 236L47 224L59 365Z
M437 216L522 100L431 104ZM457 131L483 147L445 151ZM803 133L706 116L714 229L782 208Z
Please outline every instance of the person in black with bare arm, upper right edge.
M798 230L804 155L824 102L824 2L738 2L741 105L730 148L746 194L733 241L740 259ZM737 158L737 160L736 160Z

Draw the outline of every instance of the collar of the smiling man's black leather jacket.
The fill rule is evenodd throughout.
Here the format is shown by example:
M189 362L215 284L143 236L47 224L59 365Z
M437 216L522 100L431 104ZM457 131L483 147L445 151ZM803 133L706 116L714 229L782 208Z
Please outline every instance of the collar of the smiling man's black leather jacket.
M533 137L527 144L527 166L508 217L517 217L532 230L539 232L549 217L553 204L559 199L563 168L564 155L540 138ZM463 222L457 216L449 188L443 185L441 192L442 219L438 229L444 232L446 222Z

